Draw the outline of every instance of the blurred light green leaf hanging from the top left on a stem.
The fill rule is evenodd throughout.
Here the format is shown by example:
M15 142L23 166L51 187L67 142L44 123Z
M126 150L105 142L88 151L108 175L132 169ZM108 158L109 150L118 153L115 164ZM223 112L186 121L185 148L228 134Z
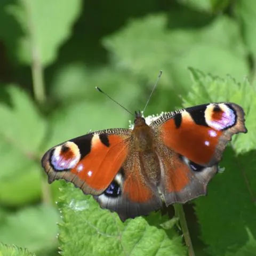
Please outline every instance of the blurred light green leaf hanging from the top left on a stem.
M67 0L65 4L61 0L18 0L5 5L5 11L20 23L23 32L17 43L16 59L30 64L36 58L44 66L53 62L58 47L71 33L81 4L81 0ZM7 45L10 37L6 34Z

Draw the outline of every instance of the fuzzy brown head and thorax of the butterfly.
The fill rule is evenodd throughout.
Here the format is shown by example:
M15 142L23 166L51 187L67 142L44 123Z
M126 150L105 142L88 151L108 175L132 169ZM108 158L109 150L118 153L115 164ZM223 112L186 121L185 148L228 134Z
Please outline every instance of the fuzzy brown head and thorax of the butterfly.
M134 120L132 137L135 148L140 152L152 151L154 147L153 130L146 124L143 117L137 116Z

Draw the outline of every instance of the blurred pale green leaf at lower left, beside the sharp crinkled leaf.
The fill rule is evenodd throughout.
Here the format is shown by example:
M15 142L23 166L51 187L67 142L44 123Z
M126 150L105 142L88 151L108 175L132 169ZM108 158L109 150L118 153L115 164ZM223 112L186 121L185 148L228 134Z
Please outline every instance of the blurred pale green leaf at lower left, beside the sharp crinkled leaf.
M31 252L51 251L58 246L57 221L58 212L53 207L25 208L5 217L0 224L0 241L26 247Z

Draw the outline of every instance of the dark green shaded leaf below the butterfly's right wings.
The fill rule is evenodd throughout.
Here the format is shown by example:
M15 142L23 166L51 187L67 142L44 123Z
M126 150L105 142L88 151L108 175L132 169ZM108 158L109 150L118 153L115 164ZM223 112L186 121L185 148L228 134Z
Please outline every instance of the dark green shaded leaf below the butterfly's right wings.
M244 246L247 228L256 236L255 159L255 150L236 157L228 147L220 162L225 171L210 182L206 197L194 201L201 239L213 256Z

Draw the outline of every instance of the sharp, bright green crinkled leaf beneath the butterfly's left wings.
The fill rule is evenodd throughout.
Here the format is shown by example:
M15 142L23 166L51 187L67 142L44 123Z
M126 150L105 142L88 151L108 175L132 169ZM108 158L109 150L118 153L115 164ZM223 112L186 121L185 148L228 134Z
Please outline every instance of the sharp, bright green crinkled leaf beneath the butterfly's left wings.
M164 230L161 222L151 226L147 218L139 217L123 223L116 213L101 209L91 196L66 182L62 185L62 255L187 255L181 237L173 229Z

